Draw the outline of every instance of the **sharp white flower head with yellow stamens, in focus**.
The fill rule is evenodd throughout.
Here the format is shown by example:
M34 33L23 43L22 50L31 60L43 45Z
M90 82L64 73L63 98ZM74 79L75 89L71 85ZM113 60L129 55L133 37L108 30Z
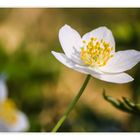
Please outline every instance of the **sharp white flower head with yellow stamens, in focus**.
M115 40L108 28L99 27L81 38L76 30L65 25L59 31L59 40L64 53L52 51L52 54L67 67L112 83L133 80L124 71L140 61L140 52L115 52Z

